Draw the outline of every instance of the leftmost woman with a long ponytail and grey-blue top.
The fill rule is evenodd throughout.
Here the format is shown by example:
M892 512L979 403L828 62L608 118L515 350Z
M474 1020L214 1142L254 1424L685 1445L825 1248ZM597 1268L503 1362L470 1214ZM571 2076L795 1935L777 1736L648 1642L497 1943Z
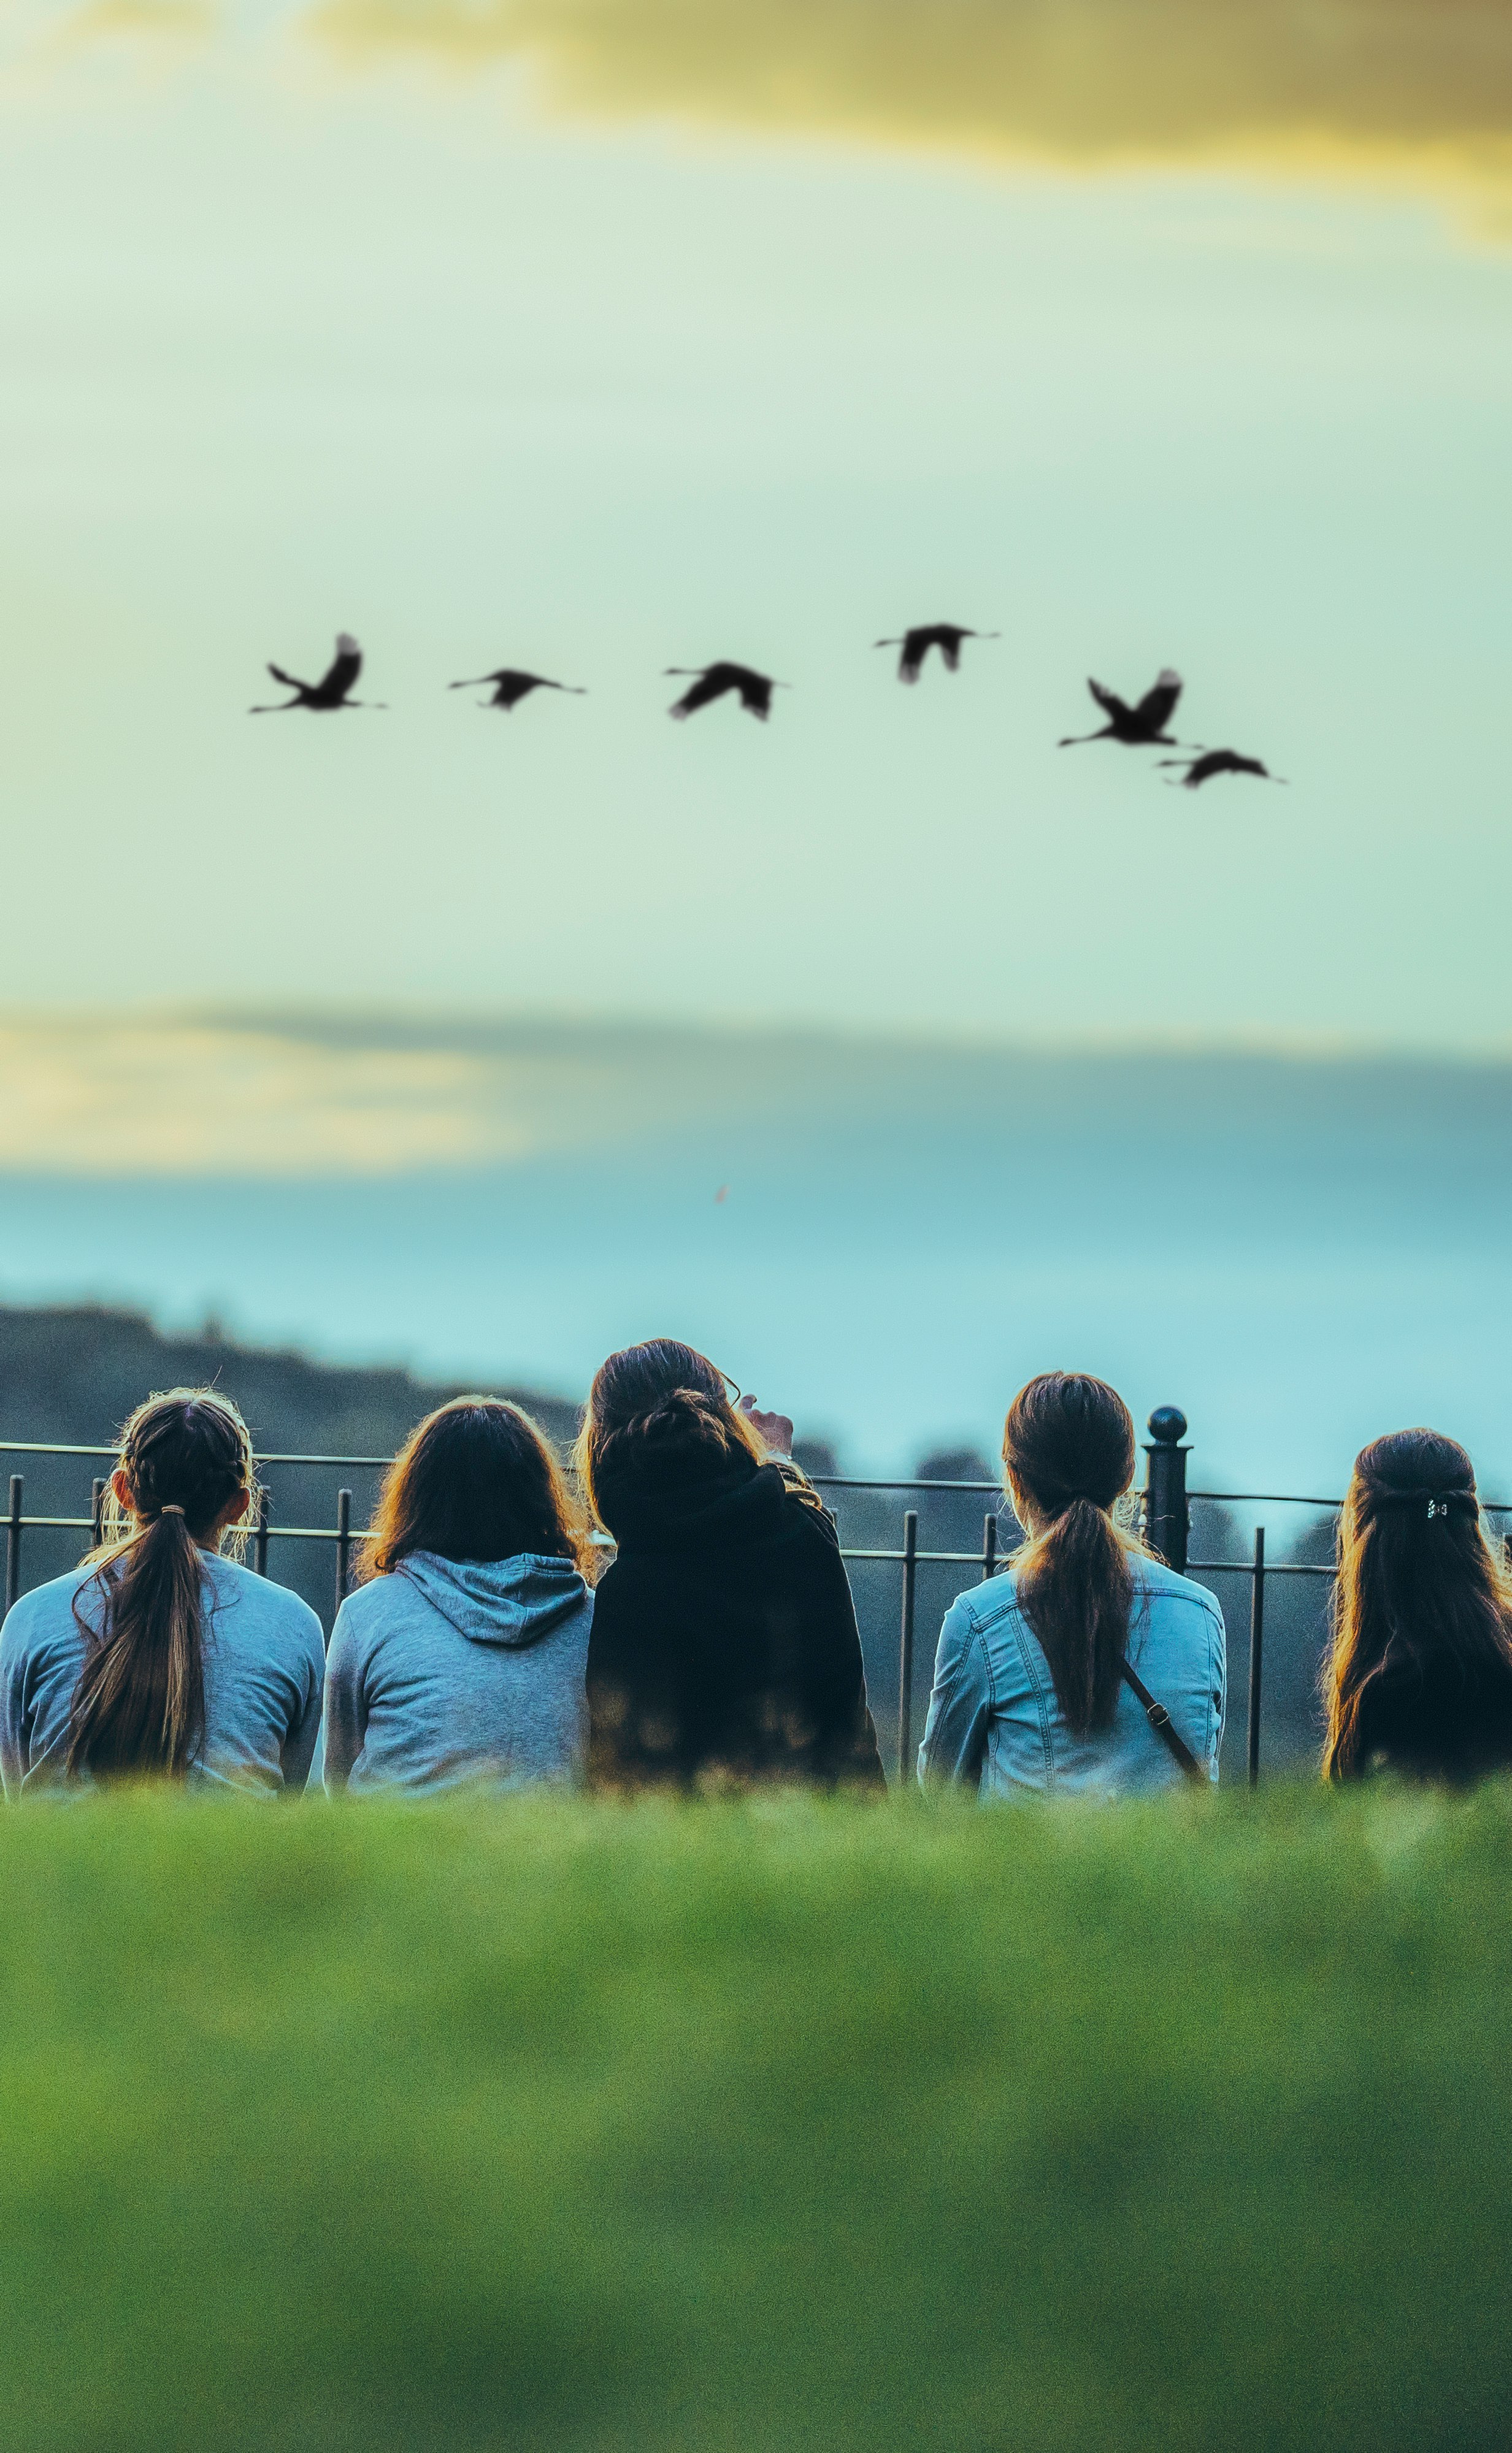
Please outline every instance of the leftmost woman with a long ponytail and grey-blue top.
M319 1619L221 1550L243 1538L255 1487L231 1398L172 1388L137 1406L106 1540L27 1592L0 1634L10 1798L130 1776L304 1788L326 1670Z

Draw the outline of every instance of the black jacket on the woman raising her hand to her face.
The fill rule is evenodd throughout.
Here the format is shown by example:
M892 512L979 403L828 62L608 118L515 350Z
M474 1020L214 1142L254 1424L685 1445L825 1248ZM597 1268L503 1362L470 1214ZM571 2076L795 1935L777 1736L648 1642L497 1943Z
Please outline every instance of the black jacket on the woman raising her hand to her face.
M594 1594L589 1778L881 1786L832 1518L754 1457L668 1467L596 1494L616 1555Z

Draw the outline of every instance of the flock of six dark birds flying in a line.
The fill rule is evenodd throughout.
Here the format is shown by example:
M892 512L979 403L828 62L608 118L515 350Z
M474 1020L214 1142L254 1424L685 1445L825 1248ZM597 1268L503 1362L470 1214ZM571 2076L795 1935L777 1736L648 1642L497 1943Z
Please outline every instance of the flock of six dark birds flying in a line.
M903 630L901 638L879 638L879 648L898 650L898 679L918 682L930 652L938 652L947 672L960 670L960 650L967 638L999 638L997 630L970 630L965 623L933 621L918 623L913 630ZM297 672L285 672L282 665L270 665L268 672L275 682L292 692L290 699L280 699L277 706L253 706L253 716L287 716L295 706L304 706L312 714L339 714L349 706L383 706L380 699L353 699L363 670L363 650L341 630L336 638L336 655L329 672L319 682L302 682ZM668 679L687 682L690 687L668 709L680 724L687 716L697 716L702 706L712 706L714 699L739 697L746 714L758 716L763 724L771 716L773 689L785 689L785 682L773 682L768 672L756 672L751 665L734 665L719 660L714 665L668 665ZM587 692L577 682L552 682L545 672L520 672L513 665L501 665L496 672L479 672L471 682L449 682L449 689L488 689L479 706L503 706L506 714L528 699L533 689L560 689L567 697L582 699ZM1156 675L1151 689L1141 699L1119 699L1114 689L1105 689L1102 682L1087 682L1092 699L1107 716L1107 724L1097 726L1095 733L1068 733L1058 748L1078 748L1085 741L1119 741L1124 748L1171 748L1176 758L1156 760L1163 768L1183 768L1181 785L1193 792L1198 785L1210 783L1213 775L1262 775L1267 783L1286 783L1284 775L1271 775L1271 770L1259 758L1244 758L1232 748L1205 748L1195 741L1176 741L1168 731L1171 716L1181 702L1181 675L1166 667Z

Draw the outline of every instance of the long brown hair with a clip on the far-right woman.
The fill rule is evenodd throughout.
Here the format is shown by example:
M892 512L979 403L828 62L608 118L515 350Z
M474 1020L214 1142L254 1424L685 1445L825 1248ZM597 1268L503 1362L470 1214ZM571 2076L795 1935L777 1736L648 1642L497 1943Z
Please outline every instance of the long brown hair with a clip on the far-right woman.
M1338 1518L1323 1776L1360 1771L1360 1705L1387 1666L1512 1668L1512 1585L1480 1523L1475 1467L1438 1430L1392 1430L1355 1457Z

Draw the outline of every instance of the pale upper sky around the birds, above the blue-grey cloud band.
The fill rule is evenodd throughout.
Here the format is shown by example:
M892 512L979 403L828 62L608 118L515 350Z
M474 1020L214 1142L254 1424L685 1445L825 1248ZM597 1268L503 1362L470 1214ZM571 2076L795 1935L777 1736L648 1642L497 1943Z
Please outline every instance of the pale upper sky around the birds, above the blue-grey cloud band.
M1507 1045L1510 123L1478 0L12 0L0 1001ZM1286 787L1055 748L1166 662Z

